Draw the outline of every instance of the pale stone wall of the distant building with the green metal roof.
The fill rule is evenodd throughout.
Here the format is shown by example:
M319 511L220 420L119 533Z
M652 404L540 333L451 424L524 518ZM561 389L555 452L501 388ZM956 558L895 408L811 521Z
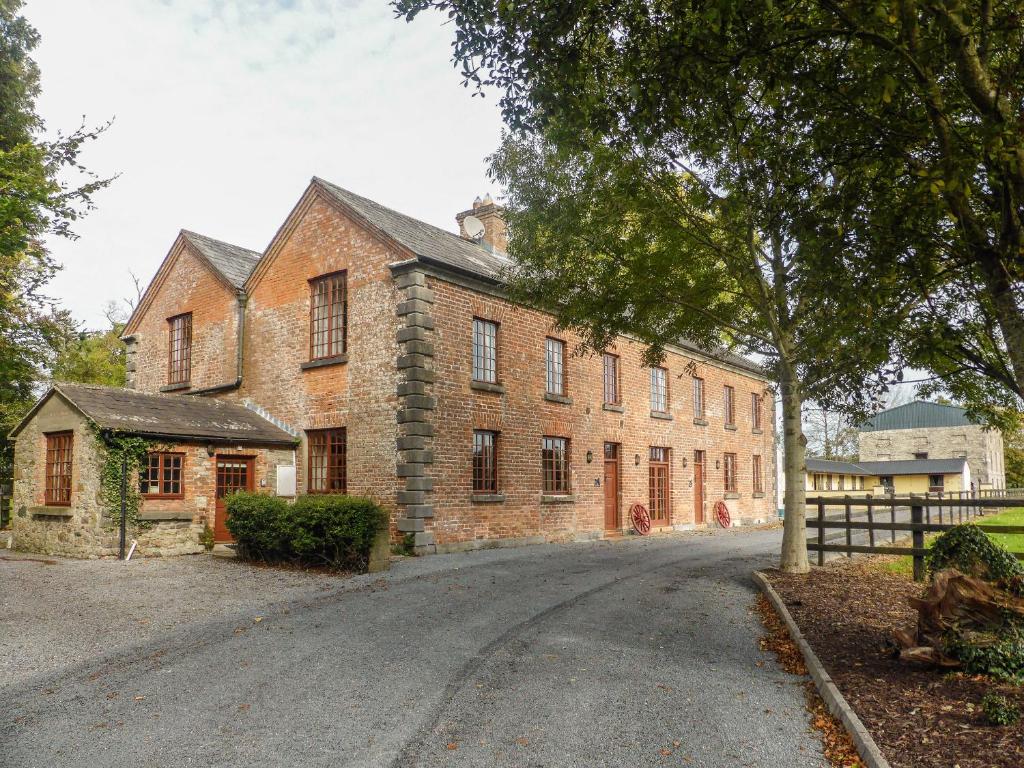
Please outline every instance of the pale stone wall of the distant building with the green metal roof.
M975 486L1006 487L1002 434L998 430L968 425L920 429L885 429L860 432L860 461L899 461L928 454L929 459L966 458Z

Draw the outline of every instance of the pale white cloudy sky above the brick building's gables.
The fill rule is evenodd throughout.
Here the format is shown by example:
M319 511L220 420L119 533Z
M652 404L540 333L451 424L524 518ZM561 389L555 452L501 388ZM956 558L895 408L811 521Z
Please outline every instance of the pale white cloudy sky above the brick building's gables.
M90 328L187 228L262 251L318 175L432 224L499 191L496 99L451 63L452 26L386 0L29 0L50 131L115 118L85 165L120 173L53 240L49 295Z

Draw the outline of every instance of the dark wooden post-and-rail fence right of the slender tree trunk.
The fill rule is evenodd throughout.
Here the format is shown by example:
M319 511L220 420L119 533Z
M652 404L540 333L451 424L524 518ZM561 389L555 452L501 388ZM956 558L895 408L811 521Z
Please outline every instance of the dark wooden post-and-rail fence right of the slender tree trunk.
M989 510L1024 507L1024 499L813 497L807 499L807 506L817 510L817 516L807 519L807 527L817 529L817 536L807 540L807 549L818 553L818 565L824 564L826 552L848 557L854 554L909 555L913 558L913 579L922 582L925 580L925 555L928 553L925 534L941 534ZM839 513L830 511L837 508ZM978 527L986 534L1024 535L1024 525L982 523ZM826 536L826 530L843 532ZM897 542L897 531L910 535L909 547ZM888 540L887 543L878 543L880 534L883 541ZM854 536L862 543L854 543ZM1017 558L1024 560L1024 554L1017 554Z

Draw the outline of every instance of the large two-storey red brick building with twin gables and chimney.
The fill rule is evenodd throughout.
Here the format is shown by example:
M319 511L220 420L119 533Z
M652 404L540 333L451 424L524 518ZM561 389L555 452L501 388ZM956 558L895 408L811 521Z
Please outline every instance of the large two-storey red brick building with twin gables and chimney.
M297 493L375 498L421 551L617 534L636 503L665 528L718 500L772 514L756 365L680 343L650 369L627 338L583 353L506 297L501 209L457 220L314 178L261 254L182 231L126 328L127 386L245 406L299 439Z

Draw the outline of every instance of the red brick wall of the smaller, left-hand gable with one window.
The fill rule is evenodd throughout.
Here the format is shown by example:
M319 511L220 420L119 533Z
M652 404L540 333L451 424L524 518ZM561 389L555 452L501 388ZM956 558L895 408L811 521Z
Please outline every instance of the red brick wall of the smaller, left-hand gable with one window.
M179 254L154 294L134 336L135 389L157 392L167 385L168 317L193 313L191 385L212 387L234 381L238 304L229 290L193 253Z

